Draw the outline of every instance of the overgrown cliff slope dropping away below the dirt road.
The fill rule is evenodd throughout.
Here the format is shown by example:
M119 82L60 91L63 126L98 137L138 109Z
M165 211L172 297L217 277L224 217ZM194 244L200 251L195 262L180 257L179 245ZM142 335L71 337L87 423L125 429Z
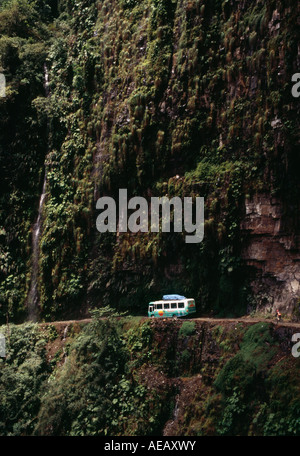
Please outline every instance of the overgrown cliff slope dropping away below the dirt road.
M299 435L296 331L148 319L11 326L0 434Z

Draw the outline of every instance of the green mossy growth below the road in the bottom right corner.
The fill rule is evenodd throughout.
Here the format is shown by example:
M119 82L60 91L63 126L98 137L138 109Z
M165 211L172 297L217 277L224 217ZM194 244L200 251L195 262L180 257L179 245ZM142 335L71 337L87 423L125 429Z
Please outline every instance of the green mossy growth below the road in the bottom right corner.
M292 396L295 384L290 378L295 375L297 382L299 363L292 363L291 368L285 358L278 362L278 349L269 324L257 323L247 330L240 351L225 364L214 383L222 394L218 434L299 434L299 399L297 394Z

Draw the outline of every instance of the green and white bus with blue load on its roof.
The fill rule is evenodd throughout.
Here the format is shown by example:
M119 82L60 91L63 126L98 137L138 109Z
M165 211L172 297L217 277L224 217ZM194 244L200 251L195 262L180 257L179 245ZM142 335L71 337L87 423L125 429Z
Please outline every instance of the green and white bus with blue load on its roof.
M192 298L153 301L148 307L148 317L151 318L187 317L195 312L195 300Z

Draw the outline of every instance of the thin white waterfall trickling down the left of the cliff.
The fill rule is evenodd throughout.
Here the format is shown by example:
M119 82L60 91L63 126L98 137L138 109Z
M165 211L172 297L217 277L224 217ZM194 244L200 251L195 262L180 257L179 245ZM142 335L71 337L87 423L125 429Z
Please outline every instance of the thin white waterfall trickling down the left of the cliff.
M46 63L44 63L44 89L46 97L49 96L49 73ZM39 275L39 241L42 224L42 212L44 207L44 201L46 197L46 186L47 186L47 170L45 170L44 183L42 194L40 197L38 216L35 224L32 228L32 272L31 272L31 284L30 290L27 297L27 311L28 320L36 322L39 317L39 291L38 291L38 275Z

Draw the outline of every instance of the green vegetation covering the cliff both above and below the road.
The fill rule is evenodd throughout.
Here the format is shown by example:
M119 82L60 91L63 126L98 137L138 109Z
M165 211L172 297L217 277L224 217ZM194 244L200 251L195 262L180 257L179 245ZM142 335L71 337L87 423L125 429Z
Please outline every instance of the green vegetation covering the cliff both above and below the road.
M0 435L300 434L287 328L142 318L170 290L202 314L255 310L246 197L276 196L283 229L299 227L297 14L292 0L0 1ZM204 197L204 241L98 233L96 201L120 188ZM51 324L23 323L35 272Z

